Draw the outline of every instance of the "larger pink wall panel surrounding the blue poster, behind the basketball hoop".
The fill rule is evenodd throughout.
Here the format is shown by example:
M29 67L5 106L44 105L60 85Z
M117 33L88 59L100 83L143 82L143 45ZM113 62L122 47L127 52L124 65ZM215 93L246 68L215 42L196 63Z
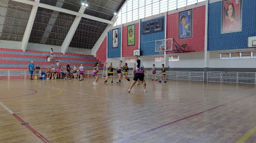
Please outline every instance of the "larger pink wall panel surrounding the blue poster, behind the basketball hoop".
M193 34L190 39L179 40L179 12L167 15L167 39L173 38L179 45L188 44L194 52L204 51L205 5L193 8ZM173 52L167 52L172 54Z

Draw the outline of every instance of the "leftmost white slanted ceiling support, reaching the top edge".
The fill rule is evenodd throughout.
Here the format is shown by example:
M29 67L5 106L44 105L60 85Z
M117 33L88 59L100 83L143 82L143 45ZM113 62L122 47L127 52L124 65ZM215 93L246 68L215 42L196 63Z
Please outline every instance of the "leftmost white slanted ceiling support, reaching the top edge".
M39 1L40 0L35 0L35 3L37 3L37 4L33 5L32 10L30 12L30 16L29 16L29 19L28 19L28 24L27 24L27 27L26 27L26 30L24 32L24 36L23 36L23 39L22 39L22 42L21 42L21 50L23 50L23 52L26 51L26 48L27 48L27 45L28 45L28 40L29 40L29 37L30 37L30 33L31 33L31 30L33 28L33 24L34 24L34 21L35 21L35 15L37 14Z

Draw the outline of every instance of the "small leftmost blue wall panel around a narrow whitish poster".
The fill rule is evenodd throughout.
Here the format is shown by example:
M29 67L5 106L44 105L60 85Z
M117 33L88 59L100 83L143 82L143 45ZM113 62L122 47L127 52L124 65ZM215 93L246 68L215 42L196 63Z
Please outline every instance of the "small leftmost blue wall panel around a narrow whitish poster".
M118 47L112 48L112 30L110 30L107 34L107 57L108 58L119 58L121 56L121 28L118 28Z

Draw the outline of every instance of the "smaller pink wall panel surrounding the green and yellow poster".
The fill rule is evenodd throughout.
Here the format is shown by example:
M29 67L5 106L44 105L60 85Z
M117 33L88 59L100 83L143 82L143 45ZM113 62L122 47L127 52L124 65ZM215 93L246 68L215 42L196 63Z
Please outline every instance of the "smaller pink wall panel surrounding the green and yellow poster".
M139 23L135 25L135 45L127 46L127 26L122 28L122 57L134 56L134 50L138 50Z

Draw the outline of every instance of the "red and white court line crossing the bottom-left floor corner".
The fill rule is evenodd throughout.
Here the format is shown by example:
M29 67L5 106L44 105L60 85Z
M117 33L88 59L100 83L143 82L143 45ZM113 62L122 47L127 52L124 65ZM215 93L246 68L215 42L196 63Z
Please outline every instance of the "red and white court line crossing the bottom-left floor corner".
M6 111L8 111L10 114L12 114L13 116L15 116L15 118L17 118L17 120L19 120L19 122L21 123L25 123L24 120L22 120L21 118L19 118L18 115L16 115L15 113L13 113L8 107L6 107L6 105L4 105L2 102L0 102L0 105L6 109ZM39 139L41 139L44 143L51 143L50 141L48 141L43 135L41 135L40 133L38 133L37 131L35 131L35 129L33 129L30 125L26 124L25 125L30 131L32 131L35 135L37 135L37 137L39 137Z

